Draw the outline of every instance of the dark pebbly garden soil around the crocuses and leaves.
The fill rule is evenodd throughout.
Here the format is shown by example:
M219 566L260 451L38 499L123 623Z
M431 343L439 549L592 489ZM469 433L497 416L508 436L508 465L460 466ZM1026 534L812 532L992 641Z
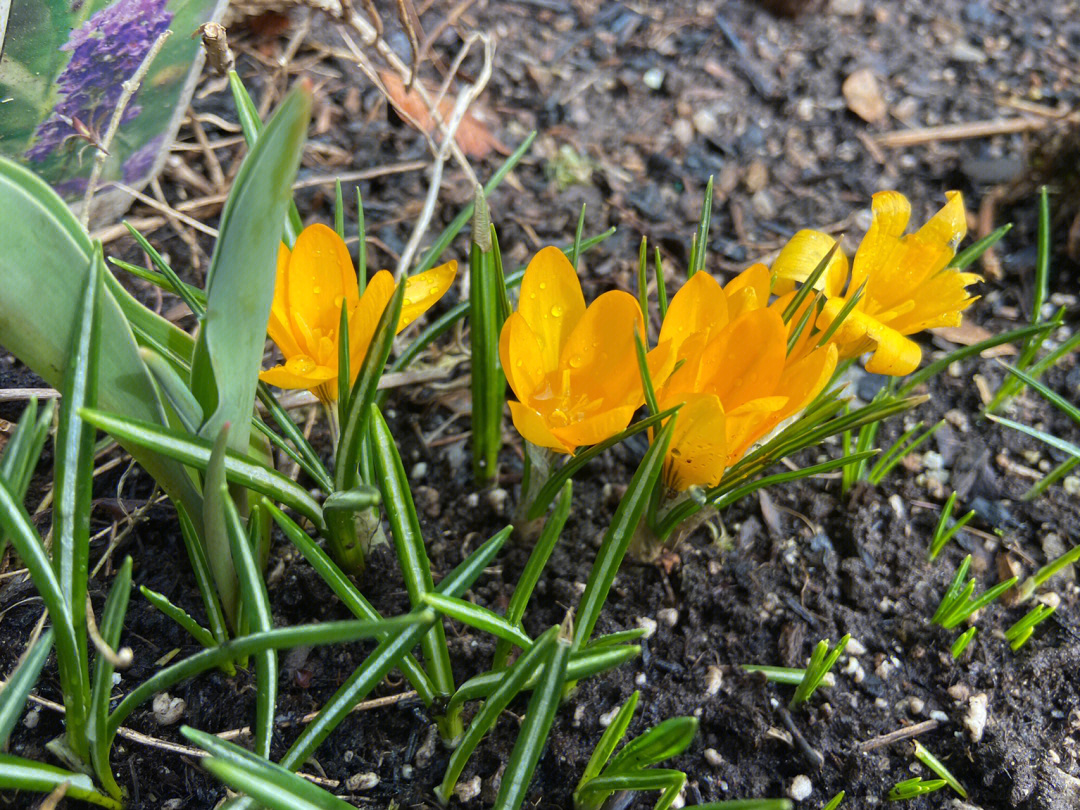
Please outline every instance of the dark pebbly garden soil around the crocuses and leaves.
M426 11L426 28L434 28L450 5L438 2ZM299 13L293 16L297 25ZM478 2L460 25L490 30L499 41L495 78L484 99L492 132L508 144L517 143L530 129L541 133L531 157L515 172L516 183L504 184L491 200L508 261L517 264L543 244L566 241L585 202L589 232L619 226L584 262L590 298L612 287L633 289L643 233L661 245L672 272L669 289L677 288L711 174L717 177L717 197L708 269L725 276L766 257L800 227L829 227L858 239L868 222L869 194L881 188L907 194L917 222L936 210L949 188L964 191L974 211L998 184L1023 179L1024 159L1036 145L1023 136L999 136L879 152L867 147L868 136L995 119L1008 112L999 104L1002 98L1075 108L1080 95L1080 8L1057 0L834 0L831 10L795 19L775 18L744 0L685 9L568 0ZM279 31L280 38L259 31L266 26L238 32L237 39L242 72L256 98L280 93L292 78L268 67L289 31ZM309 41L334 48L340 43L333 26L319 17L313 17ZM448 62L459 43L458 30L450 27L433 50ZM328 125L316 127L312 138L323 148L309 154L301 176L424 157L422 139L386 114L380 97L354 67L309 45L301 46L294 64L293 73L313 76L318 104L328 107ZM467 71L474 67L465 63ZM843 79L862 67L877 75L889 106L889 118L879 124L854 117L840 94ZM658 90L644 82L650 70L662 71ZM205 77L202 86L206 92L195 109L231 119L231 103L214 92L213 80ZM181 138L193 139L187 127ZM563 146L585 156L592 171L584 185L561 192L545 170ZM220 156L226 162L229 150ZM480 174L496 164L497 158L487 159ZM193 168L204 171L198 164ZM179 173L166 180L171 200L198 195ZM392 266L426 183L414 173L362 184L368 232L377 240L370 264ZM461 174L449 168L444 191L436 220L445 222L471 191ZM1055 204L1059 200L1062 205L1077 205L1077 197L1071 202L1068 198L1078 194L1076 189L1063 186L1057 191ZM298 204L305 217L326 220L332 193L326 186L301 191ZM1017 227L997 251L1002 276L983 285L983 298L969 312L973 323L995 333L1024 322L1035 259L1034 204L1025 201L1000 213L999 220L1007 213ZM1055 253L1061 254L1064 235L1055 233ZM162 229L150 239L170 254L174 267L191 264L188 243L174 231ZM203 268L210 248L200 242L204 255L197 255L195 261ZM462 258L460 243L456 249L456 257ZM139 258L127 241L114 242L110 251ZM134 288L148 302L164 303L163 311L173 306L171 299L162 302L149 291ZM1066 306L1069 326L1054 342L1075 328L1076 288L1076 267L1056 260L1053 301ZM951 346L928 338L924 348L933 357ZM427 360L460 363L463 357L445 347ZM467 366L458 368L449 383L397 392L388 414L417 485L436 579L505 524L521 470L519 448L511 444L503 454L501 482L510 497L477 492L469 474L465 434L449 444L424 441L438 429L443 436L467 429L467 420L445 424L457 418L468 395ZM35 384L32 375L17 364L5 362L0 372L4 388ZM656 622L656 633L645 642L638 661L583 681L567 701L528 806L571 806L572 787L603 731L600 717L634 689L640 689L642 702L633 733L676 715L700 718L698 739L671 764L689 777L689 805L783 796L796 777L805 775L812 794L799 807L821 807L840 789L847 791L845 807L876 806L896 782L930 774L913 765L909 742L868 753L860 745L937 718L939 727L918 739L968 788L971 805L1032 810L1080 806L1080 590L1071 571L1049 583L1047 592L1055 593L1061 605L1017 653L1009 649L1003 631L1025 608L983 611L971 650L959 662L948 654L955 634L929 622L963 554L972 554L972 570L984 589L998 581L1004 557L1027 576L1080 542L1080 501L1075 494L1058 484L1034 502L1020 499L1032 483L1030 470L1045 472L1063 457L1035 440L978 420L983 402L977 380L994 390L1002 375L997 361L974 359L934 379L924 391L930 400L916 414L887 423L879 441L888 446L915 419L931 424L944 418L935 444L922 448L934 455L913 457L877 488L861 486L841 496L836 480L775 487L767 497L746 499L721 515L720 540L701 529L664 567L627 562L597 630L629 629L646 619ZM1077 401L1076 356L1049 373L1047 381ZM860 374L852 388L869 399L880 382ZM1018 421L1080 443L1077 426L1034 394L1017 400L1013 410ZM14 419L17 411L8 406L0 416ZM561 621L577 604L599 539L643 449L629 442L578 480L573 513L527 620L530 633ZM836 455L839 445L827 444L821 453ZM795 460L805 464L815 458L807 454ZM422 474L418 462L426 465ZM140 470L121 480L122 472L123 467L99 480L95 528L122 517L121 504L130 510L152 492L152 482ZM48 474L46 458L35 491L48 486ZM926 549L941 504L954 489L960 494L958 514L974 509L977 517L970 524L972 530L960 532L936 563L928 564ZM31 498L31 505L39 499ZM43 531L48 519L39 519ZM106 544L107 538L95 543L92 561ZM473 589L472 598L502 609L527 553L524 548L504 550ZM163 592L197 617L203 615L170 508L151 507L143 514L111 559L116 563L124 554L135 559L137 584ZM13 567L9 557L8 568ZM92 582L98 610L110 571L106 566ZM268 584L280 625L347 617L280 538ZM407 608L389 550L376 552L361 584L383 613ZM0 579L3 673L11 671L41 610L40 599L22 577ZM783 707L791 689L768 686L739 667L800 666L819 639L836 640L845 633L862 649L849 649L836 667L836 685L822 688L805 711L789 718ZM487 667L491 639L454 624L448 635L459 680ZM132 598L123 643L135 650L136 663L123 673L118 694L156 671L162 657L197 649L138 594ZM297 718L319 708L368 649L351 645L282 653L275 756L297 735ZM710 693L710 684L716 687L712 667L718 667L721 679ZM390 681L378 694L407 688L396 674ZM52 665L37 693L59 700ZM208 674L180 685L173 694L187 702L183 721L207 731L246 726L254 717L254 677L244 672L234 678ZM975 742L963 720L971 698L978 694L986 696L988 721ZM482 779L481 797L469 806L494 799L523 712L524 702L512 706L463 774L462 781ZM11 750L48 760L43 745L60 733L62 720L48 708L31 708L29 716L35 719L16 730ZM136 712L127 725L181 742L175 727L154 723L149 707ZM356 714L324 743L318 762L307 770L339 782L335 792L361 807L435 807L432 787L442 778L448 752L430 743L431 729L416 702ZM793 741L793 733L802 742ZM812 752L821 755L820 767ZM119 740L112 762L133 808L211 808L225 795L185 755ZM378 777L374 787L347 787L351 777L368 772ZM0 804L11 807L30 807L38 800L0 797ZM950 800L947 793L939 793L912 806L947 807ZM646 795L629 806L651 807L652 801L654 796Z

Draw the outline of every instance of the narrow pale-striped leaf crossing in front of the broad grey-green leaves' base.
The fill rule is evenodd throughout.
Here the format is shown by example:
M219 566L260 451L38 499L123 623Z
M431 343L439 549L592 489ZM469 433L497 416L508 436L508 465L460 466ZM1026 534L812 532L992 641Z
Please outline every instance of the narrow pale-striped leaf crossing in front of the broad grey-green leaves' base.
M122 442L146 447L184 464L205 470L210 462L212 444L206 438L100 410L83 409L80 415L95 428ZM320 531L325 530L319 503L292 478L231 450L225 455L225 476L230 484L239 484L284 503L311 521Z

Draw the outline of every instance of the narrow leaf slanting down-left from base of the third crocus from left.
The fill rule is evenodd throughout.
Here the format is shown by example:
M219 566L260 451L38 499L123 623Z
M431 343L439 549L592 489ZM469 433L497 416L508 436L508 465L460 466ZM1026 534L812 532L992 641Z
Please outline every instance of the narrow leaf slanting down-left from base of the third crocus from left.
M663 468L664 456L667 453L667 445L671 442L677 418L673 415L657 432L652 444L634 472L634 477L626 487L626 492L619 501L611 524L604 534L596 559L593 562L593 568L589 573L589 581L585 583L585 591L581 595L581 604L578 606L573 627L573 648L576 650L581 649L589 642L600 617L604 603L607 602L608 593L611 591L611 584L619 572L626 550L630 548L630 541L633 539L637 524L648 505L652 488L660 478L660 471Z

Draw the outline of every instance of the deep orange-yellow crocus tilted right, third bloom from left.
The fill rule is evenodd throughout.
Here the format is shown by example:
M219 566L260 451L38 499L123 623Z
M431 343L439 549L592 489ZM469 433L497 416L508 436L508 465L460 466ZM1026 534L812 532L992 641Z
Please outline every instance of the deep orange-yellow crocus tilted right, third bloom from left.
M834 346L788 353L788 326L768 306L769 286L760 265L727 287L698 272L672 299L660 343L670 345L675 370L657 391L661 409L683 404L664 469L670 489L719 484L833 376Z

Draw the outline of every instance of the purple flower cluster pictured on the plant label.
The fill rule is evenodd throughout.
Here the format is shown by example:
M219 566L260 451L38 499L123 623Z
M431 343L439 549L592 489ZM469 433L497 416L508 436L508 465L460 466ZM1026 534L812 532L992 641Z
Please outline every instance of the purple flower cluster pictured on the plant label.
M100 134L120 100L123 82L138 70L154 40L172 22L166 2L118 0L71 31L60 46L71 52L56 80L60 102L38 126L35 144L26 150L28 160L43 162L68 138L79 137L80 131ZM121 123L136 118L140 109L130 104Z

